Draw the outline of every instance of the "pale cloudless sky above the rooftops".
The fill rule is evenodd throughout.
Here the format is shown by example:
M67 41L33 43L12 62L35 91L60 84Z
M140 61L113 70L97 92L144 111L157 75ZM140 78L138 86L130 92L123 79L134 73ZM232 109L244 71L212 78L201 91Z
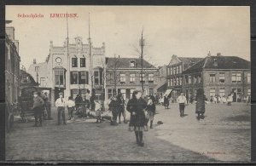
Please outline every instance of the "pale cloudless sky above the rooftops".
M94 47L106 44L106 56L139 57L139 38L145 38L144 57L154 66L167 65L172 54L205 57L221 53L250 60L249 7L193 6L6 6L7 26L15 27L20 41L21 64L34 58L44 62L49 42L62 46L67 19L49 14L78 14L68 19L70 43L90 37ZM20 18L18 14L44 14L44 18Z

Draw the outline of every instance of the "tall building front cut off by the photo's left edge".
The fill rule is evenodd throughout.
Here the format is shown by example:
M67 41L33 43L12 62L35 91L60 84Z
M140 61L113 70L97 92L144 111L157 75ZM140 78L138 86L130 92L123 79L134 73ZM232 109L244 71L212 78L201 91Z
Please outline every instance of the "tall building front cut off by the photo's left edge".
M15 28L6 27L5 34L5 96L14 103L20 95L19 41L15 39Z

